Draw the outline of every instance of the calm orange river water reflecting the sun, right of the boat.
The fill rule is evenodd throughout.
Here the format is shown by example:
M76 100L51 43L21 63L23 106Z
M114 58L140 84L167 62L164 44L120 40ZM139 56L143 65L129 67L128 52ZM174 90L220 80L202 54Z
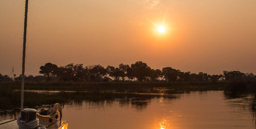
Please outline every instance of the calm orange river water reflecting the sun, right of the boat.
M62 109L63 120L69 129L255 128L250 96L230 99L223 91L175 96L72 102Z

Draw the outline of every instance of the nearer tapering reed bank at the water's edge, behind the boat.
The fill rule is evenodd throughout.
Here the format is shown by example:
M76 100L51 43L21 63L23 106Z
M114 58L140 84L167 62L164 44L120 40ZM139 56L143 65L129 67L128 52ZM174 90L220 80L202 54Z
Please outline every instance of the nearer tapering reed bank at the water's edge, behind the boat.
M70 101L106 101L115 99L129 98L146 98L162 96L161 94L136 94L136 93L121 93L121 92L24 92L24 107L34 108L35 106L55 103L69 103ZM167 96L171 97L172 96ZM0 110L17 109L20 107L20 91L8 88L0 88Z

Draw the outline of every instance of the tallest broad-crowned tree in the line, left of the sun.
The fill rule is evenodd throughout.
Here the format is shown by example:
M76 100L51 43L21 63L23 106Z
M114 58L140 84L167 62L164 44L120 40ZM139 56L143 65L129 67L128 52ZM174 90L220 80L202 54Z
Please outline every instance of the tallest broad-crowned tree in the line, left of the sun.
M131 71L138 81L143 81L146 77L150 77L151 68L142 61L137 61L135 64L131 64Z

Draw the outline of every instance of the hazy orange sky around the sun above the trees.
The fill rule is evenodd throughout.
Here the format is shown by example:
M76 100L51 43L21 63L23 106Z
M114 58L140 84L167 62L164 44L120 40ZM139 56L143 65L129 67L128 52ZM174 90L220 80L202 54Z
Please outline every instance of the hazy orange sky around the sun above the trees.
M0 73L21 73L25 0L0 0ZM163 25L164 33L157 27ZM25 74L47 62L256 73L256 0L30 0Z

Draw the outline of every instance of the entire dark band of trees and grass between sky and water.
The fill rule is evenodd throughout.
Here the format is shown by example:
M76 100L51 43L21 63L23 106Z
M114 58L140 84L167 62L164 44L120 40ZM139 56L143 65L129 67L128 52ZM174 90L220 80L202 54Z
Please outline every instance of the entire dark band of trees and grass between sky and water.
M68 103L69 100L105 101L133 97L156 97L189 91L222 90L230 96L256 94L256 76L240 71L223 71L220 75L182 72L164 67L151 69L138 61L118 67L68 64L58 67L46 63L40 67L43 76L26 76L24 106L33 108L42 104ZM0 74L0 109L18 108L20 105L21 76ZM37 90L60 91L42 93ZM73 92L68 92L73 91ZM85 92L87 91L87 92ZM154 94L138 94L154 93ZM159 93L159 94L155 94Z

